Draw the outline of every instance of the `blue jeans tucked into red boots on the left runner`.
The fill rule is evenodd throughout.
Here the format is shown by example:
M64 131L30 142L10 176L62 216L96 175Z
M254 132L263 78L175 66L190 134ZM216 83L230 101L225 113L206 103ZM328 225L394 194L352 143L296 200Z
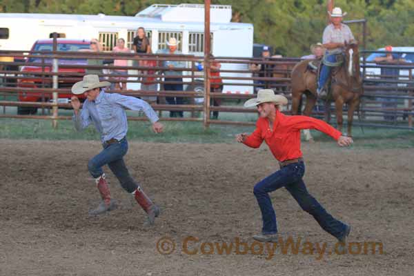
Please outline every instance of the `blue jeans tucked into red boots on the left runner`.
M94 178L100 177L103 174L102 167L108 165L110 170L112 170L119 180L122 188L128 193L132 193L139 185L130 176L124 162L123 157L128 151L128 141L126 141L126 138L124 137L121 141L109 145L103 144L102 146L103 150L90 159L88 163L90 175Z

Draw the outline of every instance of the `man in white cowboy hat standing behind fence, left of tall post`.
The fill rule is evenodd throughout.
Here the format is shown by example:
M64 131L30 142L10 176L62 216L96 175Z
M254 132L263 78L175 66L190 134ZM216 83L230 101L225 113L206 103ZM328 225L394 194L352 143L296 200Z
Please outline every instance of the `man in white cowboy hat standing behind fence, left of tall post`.
M175 37L170 37L166 41L168 49L160 49L157 51L157 54L166 54L166 55L181 55L181 52L177 50L178 41ZM183 91L183 71L181 70L172 70L175 68L185 68L186 63L184 61L162 61L162 67L169 68L170 70L164 70L164 90L167 91ZM168 82L176 83L168 83ZM168 104L183 104L184 100L182 97L166 97ZM170 111L170 117L184 117L184 112L182 111Z

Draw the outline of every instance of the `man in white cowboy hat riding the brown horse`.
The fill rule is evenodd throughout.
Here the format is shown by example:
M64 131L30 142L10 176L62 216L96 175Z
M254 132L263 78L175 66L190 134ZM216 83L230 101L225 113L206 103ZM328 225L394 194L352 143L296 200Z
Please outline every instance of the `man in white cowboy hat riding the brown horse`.
M324 48L326 48L326 52L322 59L322 68L317 81L318 97L326 97L327 92L324 86L331 68L342 64L342 49L347 43L355 41L351 29L342 23L342 17L346 15L346 12L342 14L341 8L334 8L332 13L328 13L331 16L331 24L326 26L322 37L322 43Z

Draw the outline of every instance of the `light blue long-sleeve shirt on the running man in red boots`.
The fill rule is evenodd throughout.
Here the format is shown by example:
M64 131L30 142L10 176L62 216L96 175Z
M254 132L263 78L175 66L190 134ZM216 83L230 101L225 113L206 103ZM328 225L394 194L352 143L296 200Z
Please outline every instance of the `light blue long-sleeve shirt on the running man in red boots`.
M116 93L109 94L103 90L99 92L95 101L86 99L81 112L73 115L72 119L78 131L88 127L91 123L94 124L101 135L102 142L112 138L120 140L128 132L126 109L144 111L152 124L159 120L157 113L146 101Z

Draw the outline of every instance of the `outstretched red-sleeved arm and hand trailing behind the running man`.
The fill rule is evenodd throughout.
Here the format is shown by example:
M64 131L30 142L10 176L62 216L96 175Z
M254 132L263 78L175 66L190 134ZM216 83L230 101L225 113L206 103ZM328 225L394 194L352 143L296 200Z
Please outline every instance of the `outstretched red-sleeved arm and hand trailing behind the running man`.
M288 125L290 128L295 130L303 130L303 129L315 129L319 130L320 132L324 132L326 135L331 136L339 146L349 146L353 143L351 137L344 137L339 130L333 128L331 125L326 124L326 122L315 119L308 116L291 116L289 118Z

